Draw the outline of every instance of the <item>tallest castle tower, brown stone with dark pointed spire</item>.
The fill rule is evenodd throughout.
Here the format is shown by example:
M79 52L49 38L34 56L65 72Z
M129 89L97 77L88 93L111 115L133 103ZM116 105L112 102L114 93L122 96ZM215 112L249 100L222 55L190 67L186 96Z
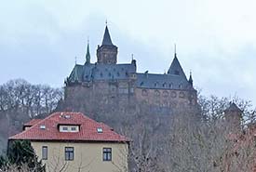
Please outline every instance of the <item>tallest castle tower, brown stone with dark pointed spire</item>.
M117 46L113 45L106 25L101 46L97 48L97 62L103 64L116 64Z

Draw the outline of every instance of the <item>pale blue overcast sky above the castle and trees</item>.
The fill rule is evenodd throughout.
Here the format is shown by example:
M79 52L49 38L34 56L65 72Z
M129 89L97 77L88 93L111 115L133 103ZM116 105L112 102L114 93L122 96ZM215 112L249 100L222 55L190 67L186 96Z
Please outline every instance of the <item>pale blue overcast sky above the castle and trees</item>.
M12 0L0 7L0 84L24 78L63 86L92 60L105 20L118 46L118 62L137 60L138 71L165 73L177 44L184 72L204 95L256 104L255 0Z

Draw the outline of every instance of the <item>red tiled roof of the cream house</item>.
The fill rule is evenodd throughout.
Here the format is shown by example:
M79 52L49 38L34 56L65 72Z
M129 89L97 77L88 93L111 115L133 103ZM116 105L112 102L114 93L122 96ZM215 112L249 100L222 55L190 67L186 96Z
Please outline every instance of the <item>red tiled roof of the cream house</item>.
M70 118L64 116L69 115ZM32 120L33 121L33 120ZM31 122L32 124L34 122ZM79 132L60 132L59 125L79 125ZM40 126L46 126L41 129ZM98 133L97 128L102 128ZM54 112L47 118L38 121L29 129L10 137L9 139L30 140L65 140L65 141L115 141L128 142L129 139L121 136L110 127L98 123L81 112Z

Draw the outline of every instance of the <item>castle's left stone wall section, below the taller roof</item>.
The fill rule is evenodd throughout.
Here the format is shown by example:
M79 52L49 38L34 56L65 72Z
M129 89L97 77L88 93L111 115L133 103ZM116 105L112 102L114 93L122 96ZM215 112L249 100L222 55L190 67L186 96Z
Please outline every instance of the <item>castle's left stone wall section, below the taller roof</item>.
M97 81L65 87L65 103L75 111L83 108L87 112L113 112L134 105L134 95L132 80Z

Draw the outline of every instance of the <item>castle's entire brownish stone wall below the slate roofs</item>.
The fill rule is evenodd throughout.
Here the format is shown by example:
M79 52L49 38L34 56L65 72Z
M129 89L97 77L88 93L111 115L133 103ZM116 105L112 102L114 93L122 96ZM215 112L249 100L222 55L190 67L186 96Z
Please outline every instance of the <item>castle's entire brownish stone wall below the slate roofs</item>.
M85 113L154 112L171 114L196 106L192 90L144 89L135 80L97 81L65 87L65 107ZM91 116L92 117L92 116Z

